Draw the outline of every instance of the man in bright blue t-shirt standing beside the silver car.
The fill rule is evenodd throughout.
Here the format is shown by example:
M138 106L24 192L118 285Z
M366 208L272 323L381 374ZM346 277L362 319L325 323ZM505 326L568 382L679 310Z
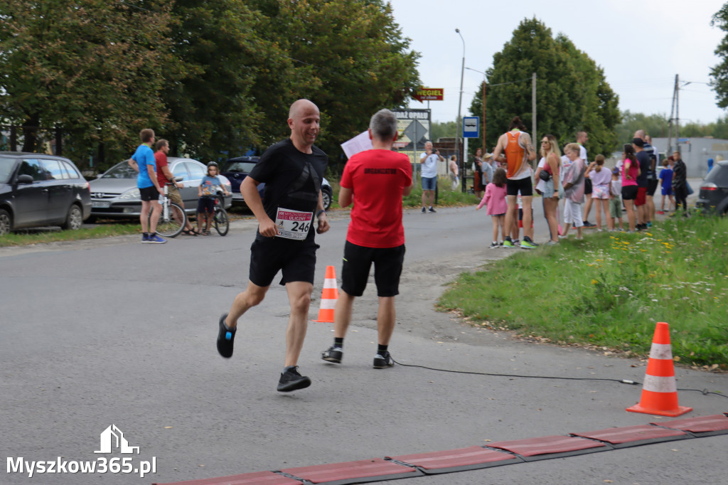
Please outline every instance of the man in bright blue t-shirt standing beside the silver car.
M159 205L159 196L165 191L159 186L157 180L157 165L154 160L154 130L144 128L139 133L141 145L138 146L132 157L129 159L129 166L138 172L137 188L141 198L141 242L146 244L164 244L167 240L157 235L157 222L159 214L162 213L162 206ZM150 214L151 211L151 214Z

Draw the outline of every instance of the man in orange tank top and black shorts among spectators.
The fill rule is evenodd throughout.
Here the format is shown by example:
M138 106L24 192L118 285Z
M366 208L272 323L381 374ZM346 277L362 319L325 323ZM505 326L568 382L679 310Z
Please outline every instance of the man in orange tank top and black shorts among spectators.
M525 234L521 241L521 248L533 249L537 245L534 243L534 229L531 227L531 202L534 198L534 188L529 162L536 159L536 150L531 143L531 136L525 131L526 127L521 122L521 118L513 118L508 129L507 133L500 135L493 151L494 159L498 162L506 162L508 165L506 173L508 210L505 213L505 230L510 231L515 221L518 221L518 192L521 192L523 234ZM505 154L505 157L501 155L502 153ZM503 247L515 248L510 235L505 237Z

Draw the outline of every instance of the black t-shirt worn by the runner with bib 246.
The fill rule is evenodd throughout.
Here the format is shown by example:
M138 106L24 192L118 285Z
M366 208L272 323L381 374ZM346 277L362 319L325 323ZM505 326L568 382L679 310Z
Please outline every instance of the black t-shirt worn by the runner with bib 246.
M250 178L266 184L263 208L273 221L276 220L278 208L316 211L328 157L317 146L311 148L311 154L303 153L296 149L290 138L286 138L270 146L250 170ZM256 237L268 239L259 233ZM314 224L311 224L306 239L312 237Z

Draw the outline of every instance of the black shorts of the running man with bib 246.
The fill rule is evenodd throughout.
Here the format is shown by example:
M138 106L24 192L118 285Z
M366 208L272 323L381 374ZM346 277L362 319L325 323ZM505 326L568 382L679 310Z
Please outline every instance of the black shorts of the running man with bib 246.
M314 240L293 241L283 237L256 239L250 246L248 277L254 284L266 287L281 271L281 285L293 281L305 281L313 285L318 248Z

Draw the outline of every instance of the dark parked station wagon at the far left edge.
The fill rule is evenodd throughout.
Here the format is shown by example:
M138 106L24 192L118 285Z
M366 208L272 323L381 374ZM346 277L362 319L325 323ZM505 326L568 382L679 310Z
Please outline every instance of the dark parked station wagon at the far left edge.
M39 226L79 229L90 213L89 183L74 162L54 155L0 152L0 234Z

